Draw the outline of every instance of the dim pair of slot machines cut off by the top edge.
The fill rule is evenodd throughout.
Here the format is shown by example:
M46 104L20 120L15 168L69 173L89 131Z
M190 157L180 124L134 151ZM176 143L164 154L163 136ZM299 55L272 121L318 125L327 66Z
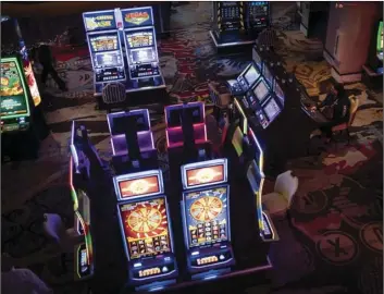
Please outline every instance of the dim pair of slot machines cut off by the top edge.
M214 28L210 35L216 48L253 44L270 26L269 1L213 2Z

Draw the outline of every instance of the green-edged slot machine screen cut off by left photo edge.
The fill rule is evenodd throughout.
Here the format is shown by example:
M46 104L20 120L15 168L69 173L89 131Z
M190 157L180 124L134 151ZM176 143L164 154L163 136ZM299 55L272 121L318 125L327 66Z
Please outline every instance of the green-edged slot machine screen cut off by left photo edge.
M1 119L29 114L28 98L22 74L15 60L1 60Z

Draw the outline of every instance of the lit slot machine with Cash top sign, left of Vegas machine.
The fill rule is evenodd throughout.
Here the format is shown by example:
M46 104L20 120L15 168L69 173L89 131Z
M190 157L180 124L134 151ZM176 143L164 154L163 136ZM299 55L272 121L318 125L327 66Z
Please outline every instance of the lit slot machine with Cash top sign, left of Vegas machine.
M103 85L108 83L121 82L125 84L126 81L117 30L117 12L119 10L108 10L83 13L94 68L96 95L101 95Z

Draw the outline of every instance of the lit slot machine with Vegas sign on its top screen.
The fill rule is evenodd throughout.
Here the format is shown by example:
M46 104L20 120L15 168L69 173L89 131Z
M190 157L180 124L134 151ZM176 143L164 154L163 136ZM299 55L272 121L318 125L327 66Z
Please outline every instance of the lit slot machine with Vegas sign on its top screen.
M121 10L131 82L129 91L165 88L159 64L151 7Z

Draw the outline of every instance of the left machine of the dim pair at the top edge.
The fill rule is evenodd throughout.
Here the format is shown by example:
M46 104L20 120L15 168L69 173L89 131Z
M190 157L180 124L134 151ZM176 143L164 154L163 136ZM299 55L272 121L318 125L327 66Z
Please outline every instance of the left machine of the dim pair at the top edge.
M243 1L213 2L214 27L210 36L218 49L255 44L246 32L244 5Z

